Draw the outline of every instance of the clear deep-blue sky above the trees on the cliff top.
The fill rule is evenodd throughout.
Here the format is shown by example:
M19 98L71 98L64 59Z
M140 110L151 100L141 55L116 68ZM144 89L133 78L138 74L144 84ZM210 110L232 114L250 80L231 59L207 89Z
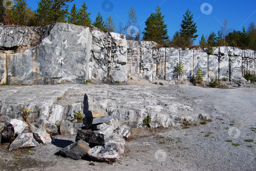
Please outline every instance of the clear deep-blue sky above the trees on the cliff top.
M76 3L78 9L83 2L83 0L74 0L69 3L70 9L74 3ZM138 25L142 29L145 27L144 21L152 11L154 12L155 7L160 5L162 15L165 15L164 19L168 25L168 35L170 37L180 29L183 15L187 9L190 9L199 35L194 44L199 44L202 33L204 35L209 35L212 31L217 33L224 18L228 20L229 30L242 30L242 27L247 28L250 22L254 21L256 23L255 0L109 0L108 2L105 2L105 0L87 0L85 2L88 6L88 12L91 12L92 21L100 11L103 18L112 15L117 26L120 19L126 23L127 11L133 5L136 9ZM106 4L103 5L105 8L102 8L103 2ZM38 6L35 0L27 0L27 4L32 9L36 9Z

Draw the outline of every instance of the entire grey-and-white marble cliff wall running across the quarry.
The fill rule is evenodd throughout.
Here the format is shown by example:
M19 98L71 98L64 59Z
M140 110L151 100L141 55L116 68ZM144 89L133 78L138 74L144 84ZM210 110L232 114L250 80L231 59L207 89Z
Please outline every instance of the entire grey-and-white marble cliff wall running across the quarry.
M235 47L158 48L155 42L126 40L125 35L54 23L44 28L0 26L1 84L83 84L86 80L126 81L127 74L146 80L175 81L184 64L184 80L202 69L204 80L243 81L255 77L255 51Z

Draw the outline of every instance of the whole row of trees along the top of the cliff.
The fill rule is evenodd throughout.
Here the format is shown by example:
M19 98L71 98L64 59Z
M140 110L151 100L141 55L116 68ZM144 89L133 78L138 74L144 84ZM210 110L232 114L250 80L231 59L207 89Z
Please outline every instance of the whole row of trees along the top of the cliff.
M193 20L192 12L187 9L180 23L180 30L176 31L170 38L167 33L167 24L165 24L161 8L157 6L155 12L151 13L145 21L143 31L137 24L136 10L133 6L127 12L127 21L119 21L118 26L111 15L103 19L98 12L96 19L92 22L88 12L88 6L82 3L79 9L74 4L69 10L69 3L74 0L40 0L38 8L32 10L27 6L26 0L7 1L0 0L0 22L4 25L24 25L24 26L45 26L55 22L68 22L75 25L97 27L104 32L118 32L126 34L127 39L155 41L158 44L172 47L192 47L198 37L196 22ZM4 1L6 2L6 1ZM9 7L9 8L6 8ZM213 46L234 46L241 49L256 50L256 28L254 22L251 22L246 29L228 31L228 22L224 19L222 27L217 32L211 32L209 35L203 34L199 41L201 47Z

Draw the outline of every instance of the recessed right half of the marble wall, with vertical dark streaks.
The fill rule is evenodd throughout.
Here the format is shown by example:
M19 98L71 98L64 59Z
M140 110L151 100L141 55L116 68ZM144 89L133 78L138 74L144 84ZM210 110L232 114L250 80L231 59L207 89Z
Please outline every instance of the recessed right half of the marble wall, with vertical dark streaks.
M162 47L155 49L155 42L127 40L128 74L140 76L146 80L175 80L175 68L179 61L184 65L182 79L196 76L201 68L205 81L215 77L232 81L243 80L250 72L256 76L255 51L241 50L235 47L214 47L212 54L204 49L177 49ZM137 69L140 68L140 69Z

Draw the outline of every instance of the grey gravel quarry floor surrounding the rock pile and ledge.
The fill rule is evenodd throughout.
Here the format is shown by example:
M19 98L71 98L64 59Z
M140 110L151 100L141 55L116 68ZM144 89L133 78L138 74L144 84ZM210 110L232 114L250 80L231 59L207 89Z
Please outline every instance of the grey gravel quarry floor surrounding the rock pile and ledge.
M254 85L245 86L230 86L230 89L157 86L152 90L154 93L176 97L179 103L210 114L212 121L205 125L198 121L187 129L131 130L125 153L113 164L92 161L87 157L75 161L60 156L58 151L75 141L75 135L66 135L54 137L54 144L40 145L28 151L9 152L2 145L0 171L256 170L256 89Z

